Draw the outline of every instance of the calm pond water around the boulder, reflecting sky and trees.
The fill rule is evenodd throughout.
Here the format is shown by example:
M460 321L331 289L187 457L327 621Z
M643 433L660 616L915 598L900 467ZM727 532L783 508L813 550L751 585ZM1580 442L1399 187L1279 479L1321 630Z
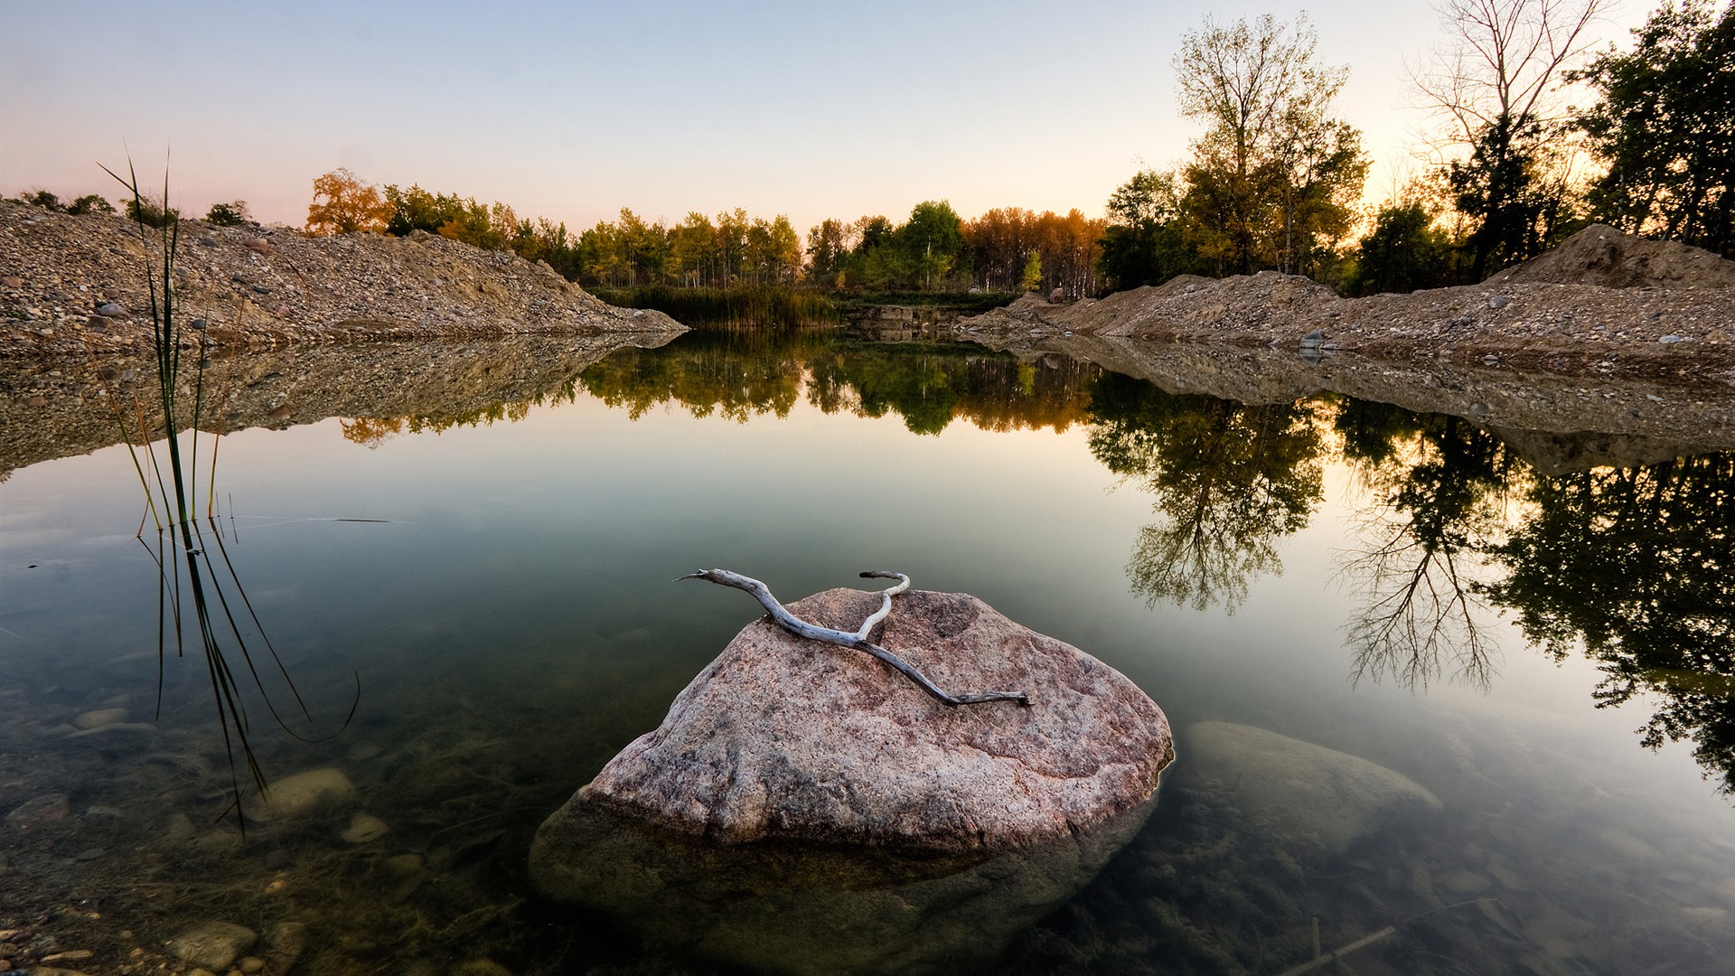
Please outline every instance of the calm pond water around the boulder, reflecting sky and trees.
M671 582L722 566L784 601L874 568L970 592L1168 712L1145 828L959 971L1730 973L1730 455L1542 472L1463 419L835 337L692 333L482 410L338 413L220 446L220 552L312 721L260 676L318 740L250 691L252 747L354 787L245 842L196 641L156 714L127 450L7 458L17 959L142 973L222 920L276 933L260 957L304 924L298 973L713 971L541 901L526 853L758 617Z

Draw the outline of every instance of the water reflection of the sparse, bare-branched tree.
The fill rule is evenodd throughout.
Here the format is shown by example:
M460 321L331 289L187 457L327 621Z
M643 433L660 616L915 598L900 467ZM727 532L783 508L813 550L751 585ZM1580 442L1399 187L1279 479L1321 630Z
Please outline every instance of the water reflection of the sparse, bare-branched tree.
M1345 623L1352 683L1426 688L1450 662L1450 677L1487 688L1496 646L1478 578L1522 464L1459 417L1346 399L1334 425L1364 495L1353 514L1360 547L1338 563L1359 604Z

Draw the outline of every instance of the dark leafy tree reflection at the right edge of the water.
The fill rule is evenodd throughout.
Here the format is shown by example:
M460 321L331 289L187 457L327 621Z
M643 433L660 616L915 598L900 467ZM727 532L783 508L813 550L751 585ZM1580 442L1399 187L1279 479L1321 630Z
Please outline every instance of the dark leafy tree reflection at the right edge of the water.
M1650 696L1643 743L1693 740L1735 794L1735 455L1537 478L1529 502L1494 603L1556 660L1582 643L1598 707Z

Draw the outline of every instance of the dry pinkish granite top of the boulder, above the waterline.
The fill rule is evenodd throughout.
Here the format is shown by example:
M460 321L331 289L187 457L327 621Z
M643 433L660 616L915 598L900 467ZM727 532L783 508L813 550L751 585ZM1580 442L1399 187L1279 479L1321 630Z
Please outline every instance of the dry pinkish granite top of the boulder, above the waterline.
M854 630L878 603L838 589L789 610ZM862 651L758 620L579 795L727 842L1010 849L1140 806L1175 755L1136 684L968 594L897 597L880 643L940 688L1018 689L1031 707L947 707Z

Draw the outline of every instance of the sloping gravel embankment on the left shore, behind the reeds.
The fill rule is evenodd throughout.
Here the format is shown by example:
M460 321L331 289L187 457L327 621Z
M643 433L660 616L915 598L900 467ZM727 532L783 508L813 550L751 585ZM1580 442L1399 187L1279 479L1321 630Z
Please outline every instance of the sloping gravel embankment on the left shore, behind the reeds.
M121 217L0 201L0 356L147 349L147 247L154 238ZM543 262L427 233L309 238L184 221L174 281L180 321L201 320L219 347L685 332L663 313L604 304Z

